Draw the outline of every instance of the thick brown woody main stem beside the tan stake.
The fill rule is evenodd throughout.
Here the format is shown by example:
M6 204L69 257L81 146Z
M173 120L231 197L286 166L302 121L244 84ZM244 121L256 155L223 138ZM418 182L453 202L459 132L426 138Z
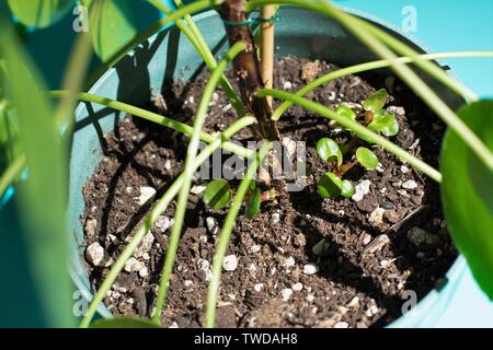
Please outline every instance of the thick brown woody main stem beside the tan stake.
M270 141L278 141L280 139L279 131L275 122L271 120L272 108L267 98L256 96L256 92L264 88L264 82L252 32L248 24L233 24L246 21L244 2L244 0L226 0L220 5L222 18L229 22L229 24L226 23L229 45L237 42L243 42L246 45L246 49L234 58L233 68L246 110L252 113L259 121L260 137Z

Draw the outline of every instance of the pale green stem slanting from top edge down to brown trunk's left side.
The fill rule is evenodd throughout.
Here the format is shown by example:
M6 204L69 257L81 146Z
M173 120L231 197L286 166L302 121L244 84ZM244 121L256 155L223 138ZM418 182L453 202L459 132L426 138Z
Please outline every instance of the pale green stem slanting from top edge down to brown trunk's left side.
M147 0L147 1L167 15L171 15L173 13L173 11L170 8L168 8L164 3L162 3L161 0ZM175 0L174 2L179 8L183 8L182 2L180 0ZM207 65L207 68L209 68L211 71L215 70L217 67L216 58L214 57L213 52L207 46L207 43L202 36L200 31L198 30L197 25L192 20L192 16L190 14L186 14L184 19L187 25L183 23L182 20L176 20L174 24L188 38L188 40L195 47L197 52L200 55L204 62ZM219 83L222 90L225 91L226 95L228 96L229 101L231 102L231 106L237 110L238 116L243 117L246 113L244 110L243 104L241 103L240 97L234 92L230 82L226 79L225 74L222 74Z

